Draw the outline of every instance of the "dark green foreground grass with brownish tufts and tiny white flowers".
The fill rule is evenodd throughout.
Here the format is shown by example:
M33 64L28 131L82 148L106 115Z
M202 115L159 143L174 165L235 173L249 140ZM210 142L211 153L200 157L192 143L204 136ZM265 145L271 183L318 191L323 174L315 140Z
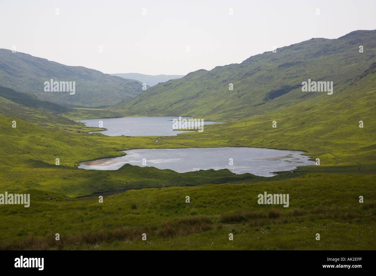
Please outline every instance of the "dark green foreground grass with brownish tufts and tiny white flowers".
M30 190L29 208L2 207L0 249L369 250L376 246L375 181L375 175L314 173L257 184L129 190L104 196L103 203L97 196L66 201L49 193L47 199ZM288 193L290 206L259 205L265 191Z

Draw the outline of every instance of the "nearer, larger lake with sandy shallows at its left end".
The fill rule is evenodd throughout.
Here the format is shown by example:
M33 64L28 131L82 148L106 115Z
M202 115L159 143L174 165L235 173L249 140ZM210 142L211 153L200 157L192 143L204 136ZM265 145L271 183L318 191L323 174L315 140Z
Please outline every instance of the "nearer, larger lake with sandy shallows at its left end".
M297 166L314 165L302 151L265 148L184 148L184 149L132 149L127 155L80 163L79 168L116 170L124 164L143 165L176 172L208 169L229 169L234 173L252 173L273 176L273 172L294 170ZM230 165L230 158L233 165Z

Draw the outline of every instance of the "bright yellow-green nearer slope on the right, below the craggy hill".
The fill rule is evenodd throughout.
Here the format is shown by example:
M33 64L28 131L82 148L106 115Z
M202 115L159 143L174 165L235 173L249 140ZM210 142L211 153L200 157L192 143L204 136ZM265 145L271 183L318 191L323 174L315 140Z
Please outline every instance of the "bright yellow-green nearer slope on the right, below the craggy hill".
M253 146L307 151L320 166L376 164L376 63L333 95L162 140L188 146ZM272 127L272 121L277 127ZM359 128L363 121L363 128Z

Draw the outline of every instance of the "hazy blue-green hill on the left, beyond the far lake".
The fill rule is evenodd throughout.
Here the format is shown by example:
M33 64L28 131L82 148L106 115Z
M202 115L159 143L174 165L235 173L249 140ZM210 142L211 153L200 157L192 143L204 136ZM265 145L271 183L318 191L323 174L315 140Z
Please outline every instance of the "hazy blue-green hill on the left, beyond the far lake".
M76 94L45 92L44 82L76 81ZM64 106L110 106L143 92L142 83L82 66L67 66L24 53L0 49L0 86L29 92L39 100Z

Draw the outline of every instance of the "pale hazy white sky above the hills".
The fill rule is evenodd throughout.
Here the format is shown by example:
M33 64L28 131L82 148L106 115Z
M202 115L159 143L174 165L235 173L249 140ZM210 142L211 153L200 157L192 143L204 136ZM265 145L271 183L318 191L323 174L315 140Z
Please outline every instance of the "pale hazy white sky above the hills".
M185 75L240 63L273 45L374 30L375 3L0 0L0 48L108 74Z

